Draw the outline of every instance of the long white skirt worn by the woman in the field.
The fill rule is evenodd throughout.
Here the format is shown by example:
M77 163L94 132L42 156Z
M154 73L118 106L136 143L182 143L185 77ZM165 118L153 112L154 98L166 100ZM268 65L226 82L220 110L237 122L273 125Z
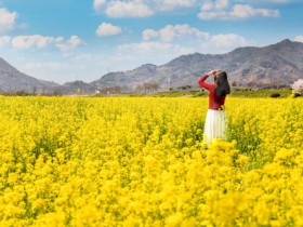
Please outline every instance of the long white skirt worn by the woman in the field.
M208 109L203 132L207 147L214 138L226 139L226 128L225 110Z

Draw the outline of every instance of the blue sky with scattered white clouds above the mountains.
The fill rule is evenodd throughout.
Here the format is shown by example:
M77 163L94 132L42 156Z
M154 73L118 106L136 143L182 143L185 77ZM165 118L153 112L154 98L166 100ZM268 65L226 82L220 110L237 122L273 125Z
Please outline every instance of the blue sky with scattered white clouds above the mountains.
M57 83L143 64L303 42L302 0L0 0L0 57Z

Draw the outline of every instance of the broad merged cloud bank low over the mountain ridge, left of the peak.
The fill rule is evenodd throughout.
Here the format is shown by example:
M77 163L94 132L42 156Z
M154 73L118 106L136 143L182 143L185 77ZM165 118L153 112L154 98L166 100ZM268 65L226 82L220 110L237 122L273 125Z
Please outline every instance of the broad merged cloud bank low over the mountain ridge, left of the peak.
M159 30L146 29L142 39L142 42L120 45L118 52L122 56L132 54L145 59L161 59L163 63L179 55L195 52L226 53L252 43L236 34L211 36L189 25L167 25Z

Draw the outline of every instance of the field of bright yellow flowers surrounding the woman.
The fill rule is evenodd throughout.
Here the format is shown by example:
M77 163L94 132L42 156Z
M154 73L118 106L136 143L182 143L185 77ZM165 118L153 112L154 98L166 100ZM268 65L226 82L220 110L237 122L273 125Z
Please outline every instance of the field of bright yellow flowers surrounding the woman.
M303 226L303 99L1 97L0 226Z

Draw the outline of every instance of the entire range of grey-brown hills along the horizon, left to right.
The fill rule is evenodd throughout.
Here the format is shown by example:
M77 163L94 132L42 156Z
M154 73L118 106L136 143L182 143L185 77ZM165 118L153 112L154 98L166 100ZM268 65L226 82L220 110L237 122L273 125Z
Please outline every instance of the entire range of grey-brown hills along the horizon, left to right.
M133 70L106 74L90 83L73 81L63 85L27 76L0 57L0 93L75 94L78 89L81 93L94 93L96 89L108 91L107 88L117 86L129 92L142 89L143 84L148 84L148 89L160 85L162 90L197 88L200 76L212 69L227 71L230 84L237 86L288 86L303 79L303 43L286 39L264 48L238 48L225 54L182 55L161 66L145 64Z

